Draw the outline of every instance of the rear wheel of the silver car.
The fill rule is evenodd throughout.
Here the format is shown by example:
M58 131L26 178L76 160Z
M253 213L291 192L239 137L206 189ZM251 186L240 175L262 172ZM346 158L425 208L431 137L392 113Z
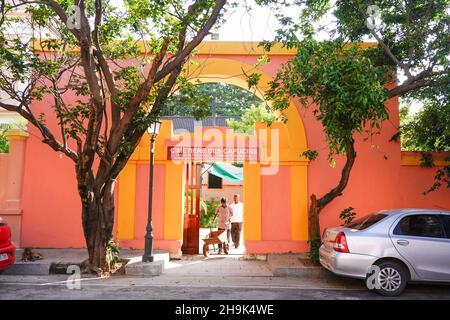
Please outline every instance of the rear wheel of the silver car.
M377 266L380 270L376 275L375 292L386 297L402 294L408 280L404 267L394 261L381 262Z

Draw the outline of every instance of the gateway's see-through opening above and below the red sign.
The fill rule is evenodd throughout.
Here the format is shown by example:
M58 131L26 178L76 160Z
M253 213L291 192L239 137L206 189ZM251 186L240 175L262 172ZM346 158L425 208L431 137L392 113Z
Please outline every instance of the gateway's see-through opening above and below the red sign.
M172 122L174 134L193 134L201 128L206 134L208 130L216 130L222 135L220 141L228 141L230 137L227 134L230 130L245 136L253 134L256 122L278 120L278 115L263 100L239 86L209 82L196 84L195 87L195 97L192 92L178 92L164 106L163 119ZM221 161L212 158L185 163L184 254L202 253L205 243L203 239L224 227L230 246L228 252L245 252L243 167L242 161L233 159ZM226 209L221 208L221 199L226 199ZM226 226L223 225L224 219L221 216L224 211L232 212ZM220 246L210 247L216 253L219 249Z

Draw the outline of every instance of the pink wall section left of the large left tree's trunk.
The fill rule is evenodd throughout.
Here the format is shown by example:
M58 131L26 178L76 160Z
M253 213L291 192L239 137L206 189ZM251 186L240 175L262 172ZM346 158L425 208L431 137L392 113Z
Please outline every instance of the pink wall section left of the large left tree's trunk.
M84 247L75 168L30 127L22 194L22 247Z

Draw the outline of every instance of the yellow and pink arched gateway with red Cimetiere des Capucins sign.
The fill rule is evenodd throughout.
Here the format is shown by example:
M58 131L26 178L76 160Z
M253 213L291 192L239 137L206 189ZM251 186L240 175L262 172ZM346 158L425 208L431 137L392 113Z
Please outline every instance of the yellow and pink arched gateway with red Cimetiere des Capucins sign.
M247 89L244 72L251 73L252 69L252 66L236 59L200 58L189 70L189 78ZM262 97L270 80L269 75L261 75L257 95ZM208 153L223 147L223 150L229 151L228 156L209 155L208 159L225 162L238 159L244 162L244 238L247 253L305 251L308 161L300 154L307 149L306 134L293 103L283 115L288 119L286 123L277 122L270 127L257 123L253 134L235 133L231 129L217 127L197 127L194 133L175 134L172 122L163 121L155 142L155 248L169 250L173 255L181 254L184 191L188 174L186 163L202 161L198 157L189 158L186 153L194 150ZM149 148L150 142L145 136L119 178L116 231L122 247L142 247L144 243ZM230 153L235 156L230 156ZM236 154L241 154L240 158Z

